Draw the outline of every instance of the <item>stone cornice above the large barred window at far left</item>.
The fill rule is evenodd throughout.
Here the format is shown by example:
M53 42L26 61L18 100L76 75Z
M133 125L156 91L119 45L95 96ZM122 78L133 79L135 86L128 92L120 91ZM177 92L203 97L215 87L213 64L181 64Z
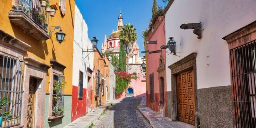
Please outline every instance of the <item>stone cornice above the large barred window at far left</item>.
M14 50L25 52L31 46L0 29L0 43Z

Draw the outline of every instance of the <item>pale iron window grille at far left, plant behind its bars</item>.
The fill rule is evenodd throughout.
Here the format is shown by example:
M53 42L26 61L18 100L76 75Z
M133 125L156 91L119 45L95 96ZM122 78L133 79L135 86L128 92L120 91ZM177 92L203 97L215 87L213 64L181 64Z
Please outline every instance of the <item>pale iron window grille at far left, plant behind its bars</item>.
M7 101L0 109L0 117L3 118L1 128L20 125L23 64L23 60L2 53L0 55L0 100Z

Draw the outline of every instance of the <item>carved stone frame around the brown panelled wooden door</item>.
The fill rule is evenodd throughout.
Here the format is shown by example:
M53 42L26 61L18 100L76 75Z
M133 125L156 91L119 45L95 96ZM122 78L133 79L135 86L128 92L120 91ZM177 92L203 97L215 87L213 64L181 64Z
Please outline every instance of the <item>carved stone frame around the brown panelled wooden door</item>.
M168 66L171 70L171 87L172 87L172 112L171 112L171 119L172 121L178 120L178 109L177 109L177 75L181 72L193 70L194 73L194 99L195 99L195 128L197 128L199 123L199 116L198 116L198 101L197 101L197 77L196 77L196 52L189 54L188 56L184 57L183 59L173 63L172 65Z

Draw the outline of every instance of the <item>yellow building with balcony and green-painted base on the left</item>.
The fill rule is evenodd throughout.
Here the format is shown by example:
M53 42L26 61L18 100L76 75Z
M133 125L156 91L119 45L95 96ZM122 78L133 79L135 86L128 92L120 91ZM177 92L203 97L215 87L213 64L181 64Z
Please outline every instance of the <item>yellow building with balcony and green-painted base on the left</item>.
M0 3L0 98L11 100L2 127L62 128L71 122L75 1L51 0L59 4L54 17L40 2ZM61 44L55 35L60 27L66 34Z

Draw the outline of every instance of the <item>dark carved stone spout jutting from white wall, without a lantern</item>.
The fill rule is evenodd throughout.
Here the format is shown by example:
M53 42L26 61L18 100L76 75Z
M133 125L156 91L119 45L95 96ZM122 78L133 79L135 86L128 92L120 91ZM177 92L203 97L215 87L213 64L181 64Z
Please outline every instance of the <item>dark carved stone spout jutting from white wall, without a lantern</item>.
M181 24L181 29L194 29L193 33L197 35L198 39L202 38L202 26L200 23L188 23L188 24Z

